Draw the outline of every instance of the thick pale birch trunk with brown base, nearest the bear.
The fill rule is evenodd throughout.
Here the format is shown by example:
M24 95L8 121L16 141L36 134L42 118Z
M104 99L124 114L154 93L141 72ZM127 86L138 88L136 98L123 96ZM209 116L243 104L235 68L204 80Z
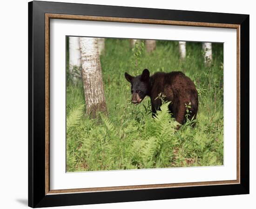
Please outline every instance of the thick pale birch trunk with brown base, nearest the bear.
M107 111L97 39L80 38L80 49L86 111L95 118L97 111Z

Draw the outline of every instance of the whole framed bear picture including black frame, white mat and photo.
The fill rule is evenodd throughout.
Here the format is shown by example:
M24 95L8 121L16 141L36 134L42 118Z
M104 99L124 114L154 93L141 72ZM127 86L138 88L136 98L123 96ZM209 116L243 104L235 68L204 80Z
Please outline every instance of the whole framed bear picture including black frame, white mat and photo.
M249 15L28 11L30 207L249 193Z

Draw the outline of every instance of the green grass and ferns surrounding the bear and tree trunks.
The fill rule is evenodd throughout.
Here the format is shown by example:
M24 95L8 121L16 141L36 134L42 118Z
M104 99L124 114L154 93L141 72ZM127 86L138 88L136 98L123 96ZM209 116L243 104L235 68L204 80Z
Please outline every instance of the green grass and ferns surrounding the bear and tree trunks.
M158 41L148 54L140 47L132 51L127 39L106 39L101 67L108 114L96 119L85 113L81 80L72 85L67 71L67 171L222 165L223 45L212 48L212 65L205 67L201 43L187 43L182 62L175 41ZM144 68L151 74L182 71L195 82L195 129L185 124L175 131L166 105L153 119L149 98L136 106L130 103L124 72L137 75Z

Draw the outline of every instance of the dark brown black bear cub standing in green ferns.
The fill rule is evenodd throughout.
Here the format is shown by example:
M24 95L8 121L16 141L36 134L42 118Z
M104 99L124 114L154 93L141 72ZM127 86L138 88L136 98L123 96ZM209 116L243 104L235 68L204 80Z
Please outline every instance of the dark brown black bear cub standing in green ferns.
M183 72L156 72L149 76L148 69L143 70L139 76L131 76L127 72L125 78L131 83L132 103L140 104L143 98L149 96L151 99L152 114L162 104L160 93L164 94L166 101L171 101L169 111L179 124L186 122L186 110L189 108L189 119L196 118L198 110L198 93L193 81L185 76ZM155 99L157 98L157 99ZM195 125L195 124L194 124Z

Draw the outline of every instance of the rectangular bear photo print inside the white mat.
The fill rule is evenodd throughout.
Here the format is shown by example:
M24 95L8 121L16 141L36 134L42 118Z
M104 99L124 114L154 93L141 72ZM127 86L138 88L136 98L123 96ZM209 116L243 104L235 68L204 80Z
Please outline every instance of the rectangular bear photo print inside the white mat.
M223 44L66 37L66 170L223 165Z

